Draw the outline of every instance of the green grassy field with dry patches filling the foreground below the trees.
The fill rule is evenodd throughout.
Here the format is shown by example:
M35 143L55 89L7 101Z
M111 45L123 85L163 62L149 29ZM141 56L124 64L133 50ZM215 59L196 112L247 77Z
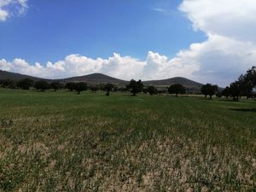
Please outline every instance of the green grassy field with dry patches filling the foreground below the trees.
M0 191L256 191L253 108L0 90Z

